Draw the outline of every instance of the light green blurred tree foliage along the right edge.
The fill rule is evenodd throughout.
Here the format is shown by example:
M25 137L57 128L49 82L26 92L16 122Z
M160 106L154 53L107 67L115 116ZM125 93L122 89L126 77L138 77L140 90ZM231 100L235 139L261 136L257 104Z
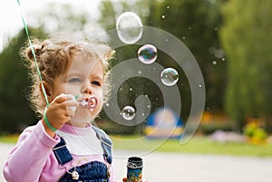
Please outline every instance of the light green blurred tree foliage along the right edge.
M242 129L247 118L271 117L272 2L229 0L220 39L228 55L226 111Z

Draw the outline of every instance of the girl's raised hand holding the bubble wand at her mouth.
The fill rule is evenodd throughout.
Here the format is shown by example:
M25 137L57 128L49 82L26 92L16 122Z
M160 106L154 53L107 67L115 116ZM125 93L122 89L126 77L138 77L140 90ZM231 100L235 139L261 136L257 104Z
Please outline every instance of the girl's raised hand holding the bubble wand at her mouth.
M53 101L48 106L45 115L50 125L54 129L61 129L63 125L68 122L71 117L74 115L74 107L78 106L78 102L75 101L73 95L71 94L60 94L53 99ZM53 129L46 124L43 118L43 125L45 131L51 136L54 137Z

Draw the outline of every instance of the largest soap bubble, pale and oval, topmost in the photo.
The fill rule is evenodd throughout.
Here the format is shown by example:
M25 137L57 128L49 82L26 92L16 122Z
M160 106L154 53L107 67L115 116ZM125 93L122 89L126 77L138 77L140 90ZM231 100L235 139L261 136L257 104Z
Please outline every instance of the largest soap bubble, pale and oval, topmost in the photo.
M141 19L132 12L125 12L119 16L116 22L116 29L122 43L132 44L141 39Z

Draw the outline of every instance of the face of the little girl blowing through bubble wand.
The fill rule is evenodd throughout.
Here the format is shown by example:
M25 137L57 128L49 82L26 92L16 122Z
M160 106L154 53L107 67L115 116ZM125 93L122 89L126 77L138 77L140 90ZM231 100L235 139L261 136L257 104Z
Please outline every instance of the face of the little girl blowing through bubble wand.
M73 56L73 61L67 72L54 79L52 99L61 93L73 94L78 101L84 101L90 96L97 99L93 110L79 104L71 123L77 127L85 127L102 110L104 71L101 61L86 60L83 56Z

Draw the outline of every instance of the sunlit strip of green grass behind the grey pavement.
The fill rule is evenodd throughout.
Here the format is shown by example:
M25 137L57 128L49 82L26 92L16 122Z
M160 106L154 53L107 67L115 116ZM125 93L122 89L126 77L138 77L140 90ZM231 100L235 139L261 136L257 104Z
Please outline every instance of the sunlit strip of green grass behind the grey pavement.
M0 142L15 143L18 135L0 137ZM135 139L141 139L140 141ZM180 152L190 154L216 154L235 156L254 156L272 158L272 144L253 145L241 143L217 143L209 138L194 137L186 144L180 145L179 139L144 139L139 136L115 136L112 137L115 149L137 149L161 152Z

